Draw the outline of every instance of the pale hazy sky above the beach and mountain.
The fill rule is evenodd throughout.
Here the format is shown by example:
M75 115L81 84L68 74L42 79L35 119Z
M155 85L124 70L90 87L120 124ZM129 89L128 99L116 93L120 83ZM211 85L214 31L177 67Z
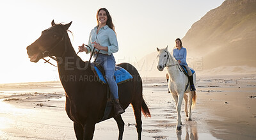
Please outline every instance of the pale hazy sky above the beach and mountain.
M174 46L175 38L183 38L194 22L224 0L1 0L0 83L56 81L58 71L42 60L31 63L26 47L44 29L57 23L72 22L72 45L88 42L97 25L96 12L107 8L116 27L119 51L116 63L139 61L156 51L156 47ZM88 55L79 54L84 60ZM52 61L55 63L54 61Z

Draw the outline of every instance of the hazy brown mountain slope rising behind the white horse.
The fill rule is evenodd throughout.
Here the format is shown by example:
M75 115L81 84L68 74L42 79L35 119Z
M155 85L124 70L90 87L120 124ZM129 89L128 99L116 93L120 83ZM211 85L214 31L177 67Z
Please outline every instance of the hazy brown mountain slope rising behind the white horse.
M226 0L195 22L182 38L193 64L256 67L256 0Z

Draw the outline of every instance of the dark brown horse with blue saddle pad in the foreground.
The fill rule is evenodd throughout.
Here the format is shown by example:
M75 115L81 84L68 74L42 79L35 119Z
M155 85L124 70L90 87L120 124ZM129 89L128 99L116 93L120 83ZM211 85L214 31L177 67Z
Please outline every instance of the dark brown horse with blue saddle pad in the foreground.
M77 139L93 139L95 124L99 123L104 115L107 102L107 85L97 81L88 61L84 62L77 56L70 38L68 37L69 24L55 24L42 31L42 35L27 47L31 62L51 56L56 58L60 81L66 93L68 117L74 121L74 130ZM141 139L141 111L145 116L150 116L147 104L142 95L141 77L129 63L118 66L125 68L133 77L127 82L118 84L120 103L126 109L132 104L136 120L138 139ZM124 121L120 115L115 116L113 111L108 118L114 118L119 129L118 139L124 133Z

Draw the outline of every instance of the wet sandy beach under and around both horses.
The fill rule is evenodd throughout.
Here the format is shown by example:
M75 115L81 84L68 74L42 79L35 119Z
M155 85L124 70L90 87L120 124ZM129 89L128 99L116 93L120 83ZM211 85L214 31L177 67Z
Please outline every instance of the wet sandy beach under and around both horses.
M151 118L142 117L142 139L256 139L256 75L199 76L192 121L182 105L176 132L175 102L164 77L143 78ZM60 82L0 84L0 139L76 139ZM134 114L122 114L124 139L137 139ZM98 123L93 139L118 139L113 118Z

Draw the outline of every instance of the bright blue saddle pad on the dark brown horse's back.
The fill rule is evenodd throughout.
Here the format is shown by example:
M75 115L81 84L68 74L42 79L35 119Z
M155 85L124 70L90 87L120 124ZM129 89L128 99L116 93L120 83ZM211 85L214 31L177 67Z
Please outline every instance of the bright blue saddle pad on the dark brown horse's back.
M106 79L104 78L104 75L102 74L102 72L100 72L99 68L97 66L93 66L93 67L99 77L99 80L101 82L103 82L104 84L106 84L107 83ZM127 70L125 70L124 68L122 68L120 66L116 66L114 77L115 77L115 81L117 84L126 82L129 79L133 78L132 75L129 74L129 72L127 72Z

